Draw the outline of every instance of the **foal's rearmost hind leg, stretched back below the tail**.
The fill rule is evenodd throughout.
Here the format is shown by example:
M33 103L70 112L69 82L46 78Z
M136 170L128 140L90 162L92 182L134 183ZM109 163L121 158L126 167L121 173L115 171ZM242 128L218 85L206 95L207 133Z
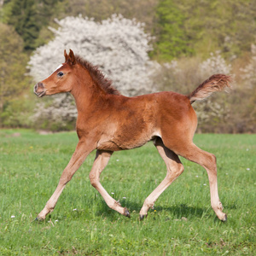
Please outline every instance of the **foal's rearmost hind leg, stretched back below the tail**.
M223 207L218 198L217 165L215 155L203 151L201 148L195 146L194 143L180 143L179 146L175 146L173 149L177 154L183 156L187 160L203 166L207 170L212 209L220 220L226 221L227 215L222 212Z

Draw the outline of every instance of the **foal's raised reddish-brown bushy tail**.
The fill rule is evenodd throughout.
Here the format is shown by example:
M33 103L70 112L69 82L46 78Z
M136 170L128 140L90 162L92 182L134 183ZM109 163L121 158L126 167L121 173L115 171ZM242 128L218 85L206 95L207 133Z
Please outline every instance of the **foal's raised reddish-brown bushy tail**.
M212 75L209 79L200 84L194 91L189 94L189 100L192 104L195 101L201 101L210 96L215 91L224 90L230 87L231 77L218 73Z

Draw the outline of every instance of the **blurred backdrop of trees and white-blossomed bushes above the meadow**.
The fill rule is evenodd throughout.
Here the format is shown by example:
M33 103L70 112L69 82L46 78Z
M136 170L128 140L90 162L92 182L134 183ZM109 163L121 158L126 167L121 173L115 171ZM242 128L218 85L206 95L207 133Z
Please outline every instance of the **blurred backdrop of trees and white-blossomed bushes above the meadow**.
M256 0L0 0L0 128L74 130L71 96L32 93L70 48L126 96L228 74L229 93L193 104L197 132L256 131Z

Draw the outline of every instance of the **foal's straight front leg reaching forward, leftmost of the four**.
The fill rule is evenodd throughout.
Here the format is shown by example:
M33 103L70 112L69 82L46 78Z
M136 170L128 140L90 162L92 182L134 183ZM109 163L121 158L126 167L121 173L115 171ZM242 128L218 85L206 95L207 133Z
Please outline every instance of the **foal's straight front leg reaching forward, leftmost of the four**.
M79 141L71 160L61 174L60 181L57 188L55 189L54 194L49 198L49 201L47 201L44 209L38 214L38 217L36 219L43 220L49 212L52 212L54 210L62 190L65 188L66 184L72 179L74 173L79 169L87 155L90 154L93 149L95 148L89 146L89 143Z

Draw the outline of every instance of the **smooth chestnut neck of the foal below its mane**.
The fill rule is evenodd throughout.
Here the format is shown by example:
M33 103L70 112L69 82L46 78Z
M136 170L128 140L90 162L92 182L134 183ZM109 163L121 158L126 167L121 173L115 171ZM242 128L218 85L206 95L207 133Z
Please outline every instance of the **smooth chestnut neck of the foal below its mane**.
M106 94L102 88L91 78L88 71L76 75L76 81L71 90L79 113L90 111L102 95Z

